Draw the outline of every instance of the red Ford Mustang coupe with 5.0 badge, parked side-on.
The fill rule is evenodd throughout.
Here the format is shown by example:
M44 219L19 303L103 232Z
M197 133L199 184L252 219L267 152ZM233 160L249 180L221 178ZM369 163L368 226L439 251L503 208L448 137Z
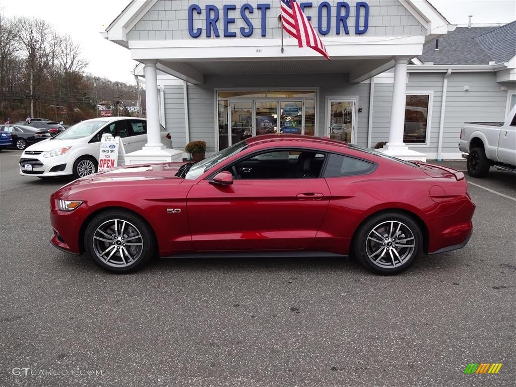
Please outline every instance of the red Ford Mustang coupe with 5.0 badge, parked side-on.
M462 172L341 141L248 138L199 163L125 166L51 197L52 244L112 272L154 255L346 256L394 274L465 246Z

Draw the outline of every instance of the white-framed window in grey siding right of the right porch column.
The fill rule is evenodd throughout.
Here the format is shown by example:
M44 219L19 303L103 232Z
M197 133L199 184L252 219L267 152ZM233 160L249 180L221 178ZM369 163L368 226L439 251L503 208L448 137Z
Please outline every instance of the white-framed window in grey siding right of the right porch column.
M409 93L405 103L403 142L426 144L429 129L430 93Z

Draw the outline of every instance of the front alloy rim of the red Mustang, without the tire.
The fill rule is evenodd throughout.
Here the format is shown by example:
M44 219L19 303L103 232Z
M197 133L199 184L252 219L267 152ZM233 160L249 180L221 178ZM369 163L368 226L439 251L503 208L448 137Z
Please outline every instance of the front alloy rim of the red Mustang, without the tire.
M106 265L126 267L134 264L143 250L143 238L136 226L126 220L105 221L93 232L93 251Z

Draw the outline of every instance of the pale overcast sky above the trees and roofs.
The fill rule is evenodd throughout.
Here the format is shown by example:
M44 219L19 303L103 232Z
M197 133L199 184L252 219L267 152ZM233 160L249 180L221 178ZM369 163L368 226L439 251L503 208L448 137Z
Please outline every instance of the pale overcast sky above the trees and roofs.
M178 0L179 1L179 0ZM269 0L272 2L275 0ZM316 1L313 0L315 3ZM450 23L507 23L516 19L515 0L430 0ZM130 0L0 0L7 17L37 17L62 34L80 43L87 71L111 80L134 83L130 74L136 62L129 50L109 42L100 32L111 23Z

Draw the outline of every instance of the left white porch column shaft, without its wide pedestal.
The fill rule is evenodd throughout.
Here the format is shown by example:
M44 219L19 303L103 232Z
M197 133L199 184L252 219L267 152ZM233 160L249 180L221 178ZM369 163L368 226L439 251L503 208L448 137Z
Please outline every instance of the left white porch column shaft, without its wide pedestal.
M159 96L155 62L145 62L145 101L147 103L147 143L143 149L165 149L159 128Z

